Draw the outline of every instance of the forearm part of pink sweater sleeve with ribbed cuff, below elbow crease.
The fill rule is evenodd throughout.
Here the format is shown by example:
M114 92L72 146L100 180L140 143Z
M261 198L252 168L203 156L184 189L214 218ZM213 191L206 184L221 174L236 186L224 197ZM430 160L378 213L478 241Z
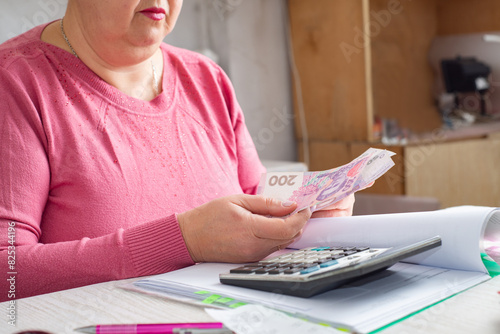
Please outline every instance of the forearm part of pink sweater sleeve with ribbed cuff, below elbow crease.
M8 227L15 224L14 234ZM38 243L23 222L0 219L1 301L116 279L154 275L194 264L175 215L98 238ZM13 237L12 237L13 235ZM11 237L8 237L11 236ZM14 247L10 241L15 241ZM32 240L32 241L30 241Z

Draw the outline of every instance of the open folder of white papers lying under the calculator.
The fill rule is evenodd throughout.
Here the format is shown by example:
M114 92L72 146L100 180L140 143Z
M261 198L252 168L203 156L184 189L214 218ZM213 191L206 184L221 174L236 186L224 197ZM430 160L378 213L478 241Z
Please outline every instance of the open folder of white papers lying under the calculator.
M219 275L238 267L226 263L202 263L123 288L226 310L262 305L313 323L368 333L497 275L499 221L498 208L473 206L311 219L291 248L397 247L436 235L442 245L310 298L221 284Z

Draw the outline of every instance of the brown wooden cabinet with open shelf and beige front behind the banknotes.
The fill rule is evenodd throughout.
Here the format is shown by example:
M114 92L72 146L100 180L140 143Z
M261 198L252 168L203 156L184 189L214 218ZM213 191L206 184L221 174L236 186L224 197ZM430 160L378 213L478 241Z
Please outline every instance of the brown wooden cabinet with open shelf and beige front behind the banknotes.
M302 98L295 101L303 101L295 102L296 138L302 159L308 147L310 170L382 147L397 153L396 166L367 192L500 206L500 126L443 136L428 61L436 35L500 31L500 2L289 0L289 14ZM376 116L427 140L385 147L373 133Z

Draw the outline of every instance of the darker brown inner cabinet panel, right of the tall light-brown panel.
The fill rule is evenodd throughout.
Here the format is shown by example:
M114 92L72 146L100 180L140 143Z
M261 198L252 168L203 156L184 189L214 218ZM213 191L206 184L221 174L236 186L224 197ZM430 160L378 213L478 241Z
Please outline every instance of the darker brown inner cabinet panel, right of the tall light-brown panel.
M370 1L374 113L415 132L441 120L432 97L428 52L437 30L436 0Z

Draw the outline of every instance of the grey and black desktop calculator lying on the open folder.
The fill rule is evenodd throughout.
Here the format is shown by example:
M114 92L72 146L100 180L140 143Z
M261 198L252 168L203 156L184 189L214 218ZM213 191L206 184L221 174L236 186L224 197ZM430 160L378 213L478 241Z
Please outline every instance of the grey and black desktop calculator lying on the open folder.
M413 255L441 246L435 236L409 245L379 248L325 246L291 250L219 275L223 284L297 297L311 297L385 270Z

